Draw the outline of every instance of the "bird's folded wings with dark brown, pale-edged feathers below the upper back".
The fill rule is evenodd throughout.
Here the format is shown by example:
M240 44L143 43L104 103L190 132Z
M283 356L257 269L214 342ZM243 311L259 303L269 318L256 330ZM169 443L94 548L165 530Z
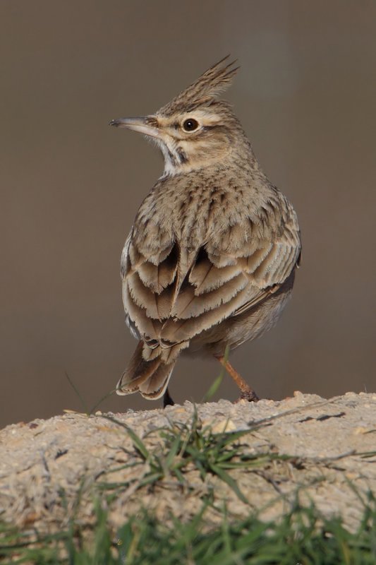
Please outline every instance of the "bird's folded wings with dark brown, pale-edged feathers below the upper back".
M275 292L301 249L296 215L287 212L272 232L245 217L190 251L171 236L140 253L131 235L122 258L123 302L142 339L162 348L188 342Z

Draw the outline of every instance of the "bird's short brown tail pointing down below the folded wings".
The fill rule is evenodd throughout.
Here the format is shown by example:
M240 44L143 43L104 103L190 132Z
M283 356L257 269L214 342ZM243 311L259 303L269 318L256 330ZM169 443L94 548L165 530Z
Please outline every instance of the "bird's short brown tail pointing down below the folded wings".
M143 345L141 340L116 385L116 393L125 395L139 391L144 398L157 400L166 391L176 359L171 363L164 363L160 357L145 361L142 357Z

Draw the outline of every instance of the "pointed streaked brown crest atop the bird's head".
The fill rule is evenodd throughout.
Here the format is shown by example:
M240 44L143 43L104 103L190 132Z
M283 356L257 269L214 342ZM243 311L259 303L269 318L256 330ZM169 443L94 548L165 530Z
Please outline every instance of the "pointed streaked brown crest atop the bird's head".
M224 65L229 55L207 69L197 81L178 94L171 102L158 110L158 114L171 116L176 112L190 112L198 106L208 106L214 99L227 88L239 67L234 66L235 61Z

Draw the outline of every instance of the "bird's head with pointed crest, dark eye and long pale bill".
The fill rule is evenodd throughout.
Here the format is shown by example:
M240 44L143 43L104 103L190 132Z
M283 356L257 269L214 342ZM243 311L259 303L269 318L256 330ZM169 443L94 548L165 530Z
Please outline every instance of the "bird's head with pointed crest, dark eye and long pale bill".
M202 169L226 161L239 149L251 153L250 144L231 106L217 95L230 83L238 67L225 59L210 67L155 114L120 118L111 126L139 131L152 138L164 155L164 174ZM248 156L248 155L247 155Z

